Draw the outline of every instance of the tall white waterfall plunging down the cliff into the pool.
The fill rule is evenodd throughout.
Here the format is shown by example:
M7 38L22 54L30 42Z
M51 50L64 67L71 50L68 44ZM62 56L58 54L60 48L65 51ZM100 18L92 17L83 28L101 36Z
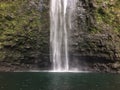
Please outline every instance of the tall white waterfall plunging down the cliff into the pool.
M69 31L76 0L50 1L50 55L54 71L69 70Z

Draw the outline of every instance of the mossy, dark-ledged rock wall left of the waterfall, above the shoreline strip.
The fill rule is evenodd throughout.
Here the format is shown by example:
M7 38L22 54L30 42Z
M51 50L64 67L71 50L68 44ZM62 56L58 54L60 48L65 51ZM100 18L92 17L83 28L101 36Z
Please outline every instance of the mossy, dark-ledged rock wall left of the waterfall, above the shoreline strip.
M2 66L50 66L48 9L49 0L0 1Z

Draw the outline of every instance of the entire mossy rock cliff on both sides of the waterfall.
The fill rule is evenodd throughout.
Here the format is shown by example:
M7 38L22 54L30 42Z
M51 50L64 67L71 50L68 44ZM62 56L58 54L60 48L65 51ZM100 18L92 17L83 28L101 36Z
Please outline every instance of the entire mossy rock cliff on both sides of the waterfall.
M50 67L49 1L0 1L0 71ZM120 71L119 8L120 0L78 0L69 39L71 66Z

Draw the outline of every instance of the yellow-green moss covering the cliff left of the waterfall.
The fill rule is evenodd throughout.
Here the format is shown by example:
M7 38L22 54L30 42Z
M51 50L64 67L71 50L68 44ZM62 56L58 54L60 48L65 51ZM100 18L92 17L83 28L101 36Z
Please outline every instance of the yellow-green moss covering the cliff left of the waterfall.
M48 21L42 18L38 6L39 0L0 1L0 60L20 61L31 56L36 58L38 52L49 53L45 51L49 48L49 35L43 33L48 32L49 27L44 24ZM47 16L47 9L43 11Z

